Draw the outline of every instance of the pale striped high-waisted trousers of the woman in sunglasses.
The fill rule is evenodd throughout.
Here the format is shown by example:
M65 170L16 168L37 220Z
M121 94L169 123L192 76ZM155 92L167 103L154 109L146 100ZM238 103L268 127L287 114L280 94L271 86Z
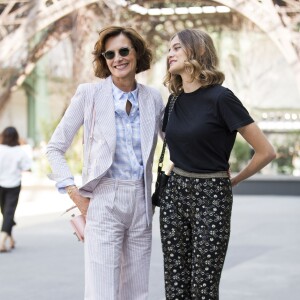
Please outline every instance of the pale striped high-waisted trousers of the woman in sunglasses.
M151 226L143 180L103 178L85 229L85 300L148 299Z

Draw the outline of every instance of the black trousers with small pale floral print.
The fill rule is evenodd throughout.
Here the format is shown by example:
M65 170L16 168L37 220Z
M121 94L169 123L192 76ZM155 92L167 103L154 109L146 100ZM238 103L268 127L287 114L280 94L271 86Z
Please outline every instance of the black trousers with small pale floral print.
M166 300L218 300L232 210L229 178L172 172L161 200Z

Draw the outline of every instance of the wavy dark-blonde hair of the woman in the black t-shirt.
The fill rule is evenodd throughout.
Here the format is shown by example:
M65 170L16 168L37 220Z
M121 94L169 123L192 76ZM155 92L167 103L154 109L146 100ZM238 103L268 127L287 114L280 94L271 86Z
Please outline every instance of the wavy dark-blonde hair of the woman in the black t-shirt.
M218 70L219 59L212 38L199 29L184 29L171 38L177 36L187 54L185 62L186 72L191 75L191 81L197 79L202 87L222 84L225 75ZM171 74L167 59L167 74L164 85L171 93L176 95L182 92L182 78L180 75Z

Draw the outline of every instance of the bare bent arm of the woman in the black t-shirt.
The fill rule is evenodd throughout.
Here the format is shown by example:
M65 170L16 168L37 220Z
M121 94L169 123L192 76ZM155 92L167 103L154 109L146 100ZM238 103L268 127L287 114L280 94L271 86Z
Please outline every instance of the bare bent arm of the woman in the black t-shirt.
M238 132L253 147L255 153L248 165L231 179L232 186L254 175L276 157L273 146L255 123L239 128Z

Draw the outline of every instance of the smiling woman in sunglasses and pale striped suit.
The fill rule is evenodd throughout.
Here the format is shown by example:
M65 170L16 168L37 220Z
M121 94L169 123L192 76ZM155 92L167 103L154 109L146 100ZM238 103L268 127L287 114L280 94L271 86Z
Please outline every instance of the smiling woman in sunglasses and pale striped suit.
M148 297L152 162L164 106L158 91L136 82L151 52L132 28L111 26L94 48L95 75L78 87L47 147L51 178L83 214L85 299ZM64 154L84 126L83 185Z

